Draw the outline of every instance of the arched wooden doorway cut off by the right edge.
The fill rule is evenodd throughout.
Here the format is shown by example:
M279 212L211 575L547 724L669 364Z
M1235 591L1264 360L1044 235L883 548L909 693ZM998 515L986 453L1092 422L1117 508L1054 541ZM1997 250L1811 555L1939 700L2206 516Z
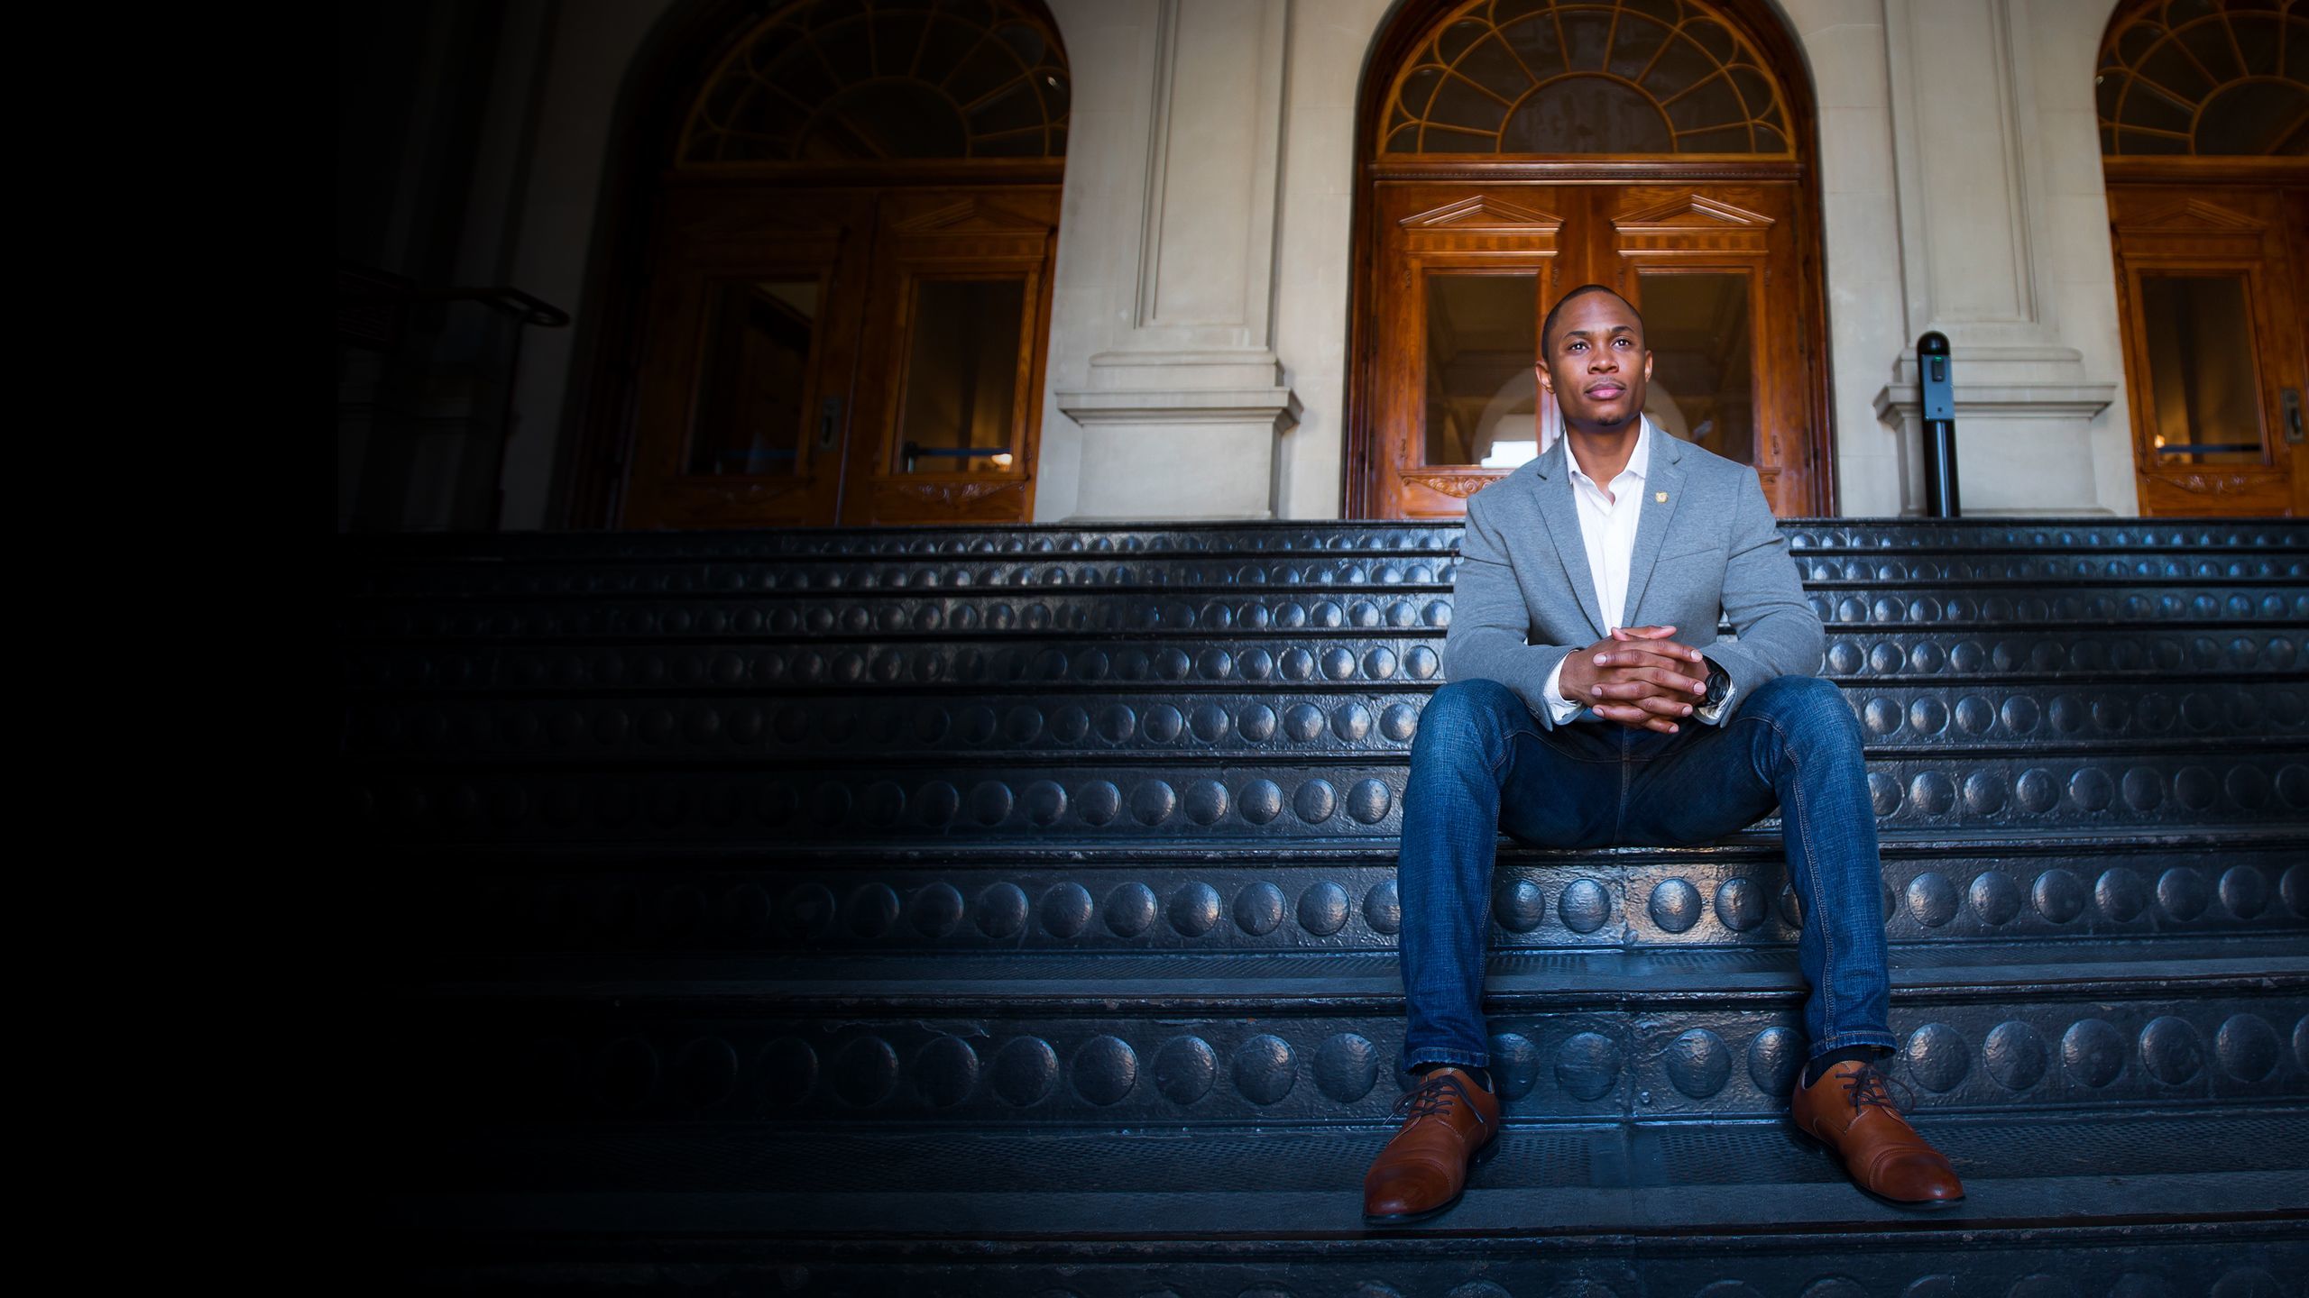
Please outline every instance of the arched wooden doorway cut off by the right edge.
M2145 515L2309 515L2309 14L2134 0L2094 72Z

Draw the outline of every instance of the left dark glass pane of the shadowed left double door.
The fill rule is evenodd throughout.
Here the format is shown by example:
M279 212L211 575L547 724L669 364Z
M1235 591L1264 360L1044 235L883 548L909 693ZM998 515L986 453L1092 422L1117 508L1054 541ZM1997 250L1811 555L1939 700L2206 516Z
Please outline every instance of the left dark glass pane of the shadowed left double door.
M690 473L792 473L810 397L817 279L713 286Z

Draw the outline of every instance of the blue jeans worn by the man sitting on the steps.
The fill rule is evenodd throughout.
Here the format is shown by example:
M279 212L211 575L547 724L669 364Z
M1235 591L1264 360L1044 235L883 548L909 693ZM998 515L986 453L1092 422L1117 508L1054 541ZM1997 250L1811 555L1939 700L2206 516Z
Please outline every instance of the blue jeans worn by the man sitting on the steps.
M1538 848L1690 845L1746 829L1776 804L1803 901L1808 1055L1898 1046L1875 806L1843 693L1817 677L1780 677L1723 725L1679 725L1676 734L1614 721L1545 730L1499 681L1452 681L1427 702L1395 871L1411 1000L1404 1069L1492 1062L1482 970L1501 829Z

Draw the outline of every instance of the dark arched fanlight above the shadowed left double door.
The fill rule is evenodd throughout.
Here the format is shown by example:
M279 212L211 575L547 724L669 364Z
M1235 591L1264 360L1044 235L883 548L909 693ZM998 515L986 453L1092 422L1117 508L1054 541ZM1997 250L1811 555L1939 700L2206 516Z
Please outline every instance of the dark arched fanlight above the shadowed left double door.
M1007 0L801 0L707 79L683 166L1064 157L1067 58Z

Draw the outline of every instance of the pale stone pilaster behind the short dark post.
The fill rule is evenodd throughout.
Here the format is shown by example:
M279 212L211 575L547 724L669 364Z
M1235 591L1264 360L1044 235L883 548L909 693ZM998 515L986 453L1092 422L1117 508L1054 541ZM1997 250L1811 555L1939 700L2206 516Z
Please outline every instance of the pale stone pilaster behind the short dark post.
M1907 337L1873 406L1898 437L1903 510L1923 508L1914 340L1940 330L1965 513L2136 513L2092 120L2106 5L1884 14Z

